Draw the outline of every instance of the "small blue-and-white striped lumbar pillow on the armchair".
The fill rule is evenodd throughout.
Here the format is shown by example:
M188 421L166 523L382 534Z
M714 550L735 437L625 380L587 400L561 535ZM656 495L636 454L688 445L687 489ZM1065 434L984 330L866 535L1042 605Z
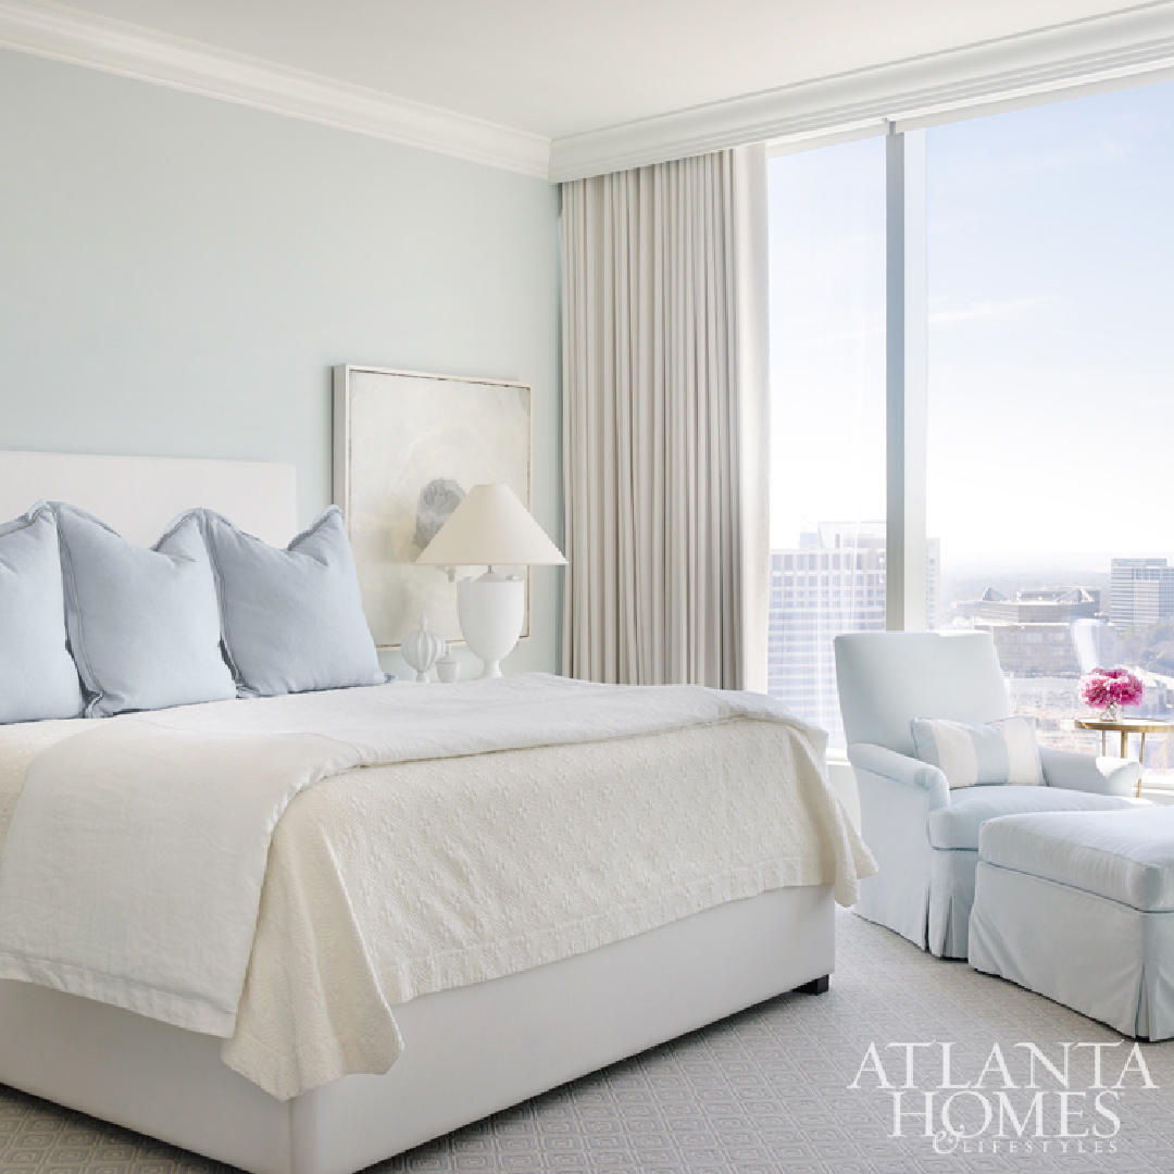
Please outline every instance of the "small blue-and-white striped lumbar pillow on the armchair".
M1035 727L1027 717L977 726L915 717L910 729L913 754L939 767L951 790L997 783L1039 787L1044 782Z

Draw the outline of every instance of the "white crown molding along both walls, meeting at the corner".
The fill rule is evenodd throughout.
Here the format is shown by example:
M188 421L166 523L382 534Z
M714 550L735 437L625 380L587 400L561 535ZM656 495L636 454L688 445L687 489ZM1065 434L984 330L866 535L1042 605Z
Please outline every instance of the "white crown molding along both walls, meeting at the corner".
M856 137L1032 97L1169 76L1174 0L796 82L556 139L382 90L93 16L49 0L0 0L0 46L437 151L551 182L740 143Z

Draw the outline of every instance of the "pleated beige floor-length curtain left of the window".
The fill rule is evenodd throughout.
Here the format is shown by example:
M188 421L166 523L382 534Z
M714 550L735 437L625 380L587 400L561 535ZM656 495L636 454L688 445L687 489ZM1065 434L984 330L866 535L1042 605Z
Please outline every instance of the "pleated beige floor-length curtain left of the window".
M564 670L765 689L762 146L562 185Z

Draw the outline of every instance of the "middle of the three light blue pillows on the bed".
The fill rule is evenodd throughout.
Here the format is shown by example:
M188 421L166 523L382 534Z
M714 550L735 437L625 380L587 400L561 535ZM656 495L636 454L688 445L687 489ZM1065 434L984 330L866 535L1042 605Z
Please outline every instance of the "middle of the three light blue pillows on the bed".
M198 511L150 548L55 505L69 647L88 717L236 696Z

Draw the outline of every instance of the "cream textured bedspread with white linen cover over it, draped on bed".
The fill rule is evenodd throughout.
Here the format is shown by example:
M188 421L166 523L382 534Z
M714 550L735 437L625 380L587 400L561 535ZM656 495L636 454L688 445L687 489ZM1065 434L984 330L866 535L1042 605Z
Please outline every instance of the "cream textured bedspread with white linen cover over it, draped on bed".
M757 695L539 675L104 721L27 770L0 977L221 1035L278 1097L385 1071L417 994L780 885L853 900L821 738Z

